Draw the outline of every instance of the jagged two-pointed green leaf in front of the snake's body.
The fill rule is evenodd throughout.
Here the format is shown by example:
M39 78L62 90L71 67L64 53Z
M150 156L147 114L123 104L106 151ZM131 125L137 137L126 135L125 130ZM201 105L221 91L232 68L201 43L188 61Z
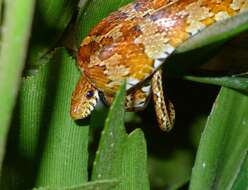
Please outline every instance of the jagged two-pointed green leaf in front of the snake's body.
M124 128L125 85L110 108L102 131L92 180L117 178L116 190L149 189L146 142L141 130L127 135Z

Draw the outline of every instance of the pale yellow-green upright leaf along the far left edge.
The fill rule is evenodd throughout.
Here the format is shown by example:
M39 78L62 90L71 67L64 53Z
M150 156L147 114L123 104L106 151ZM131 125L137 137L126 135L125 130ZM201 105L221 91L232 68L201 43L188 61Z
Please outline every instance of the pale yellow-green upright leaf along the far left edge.
M26 58L34 1L5 1L4 5L0 47L0 173L6 136Z

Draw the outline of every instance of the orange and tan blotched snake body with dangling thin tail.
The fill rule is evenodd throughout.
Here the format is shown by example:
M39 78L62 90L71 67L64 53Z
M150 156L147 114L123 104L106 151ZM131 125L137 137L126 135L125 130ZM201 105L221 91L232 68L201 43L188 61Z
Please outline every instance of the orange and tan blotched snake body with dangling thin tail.
M161 78L161 65L187 39L247 9L248 0L137 0L111 13L82 41L77 55L82 77L90 84L88 89L103 92L108 104L126 80L129 110L147 103L150 91L142 90L142 83L151 79L158 121L163 130L169 130L165 115L172 113L168 117L173 123L175 114L164 108L165 98L159 97L162 88L155 82ZM76 94L85 96L82 91ZM72 110L80 107L75 101L72 105Z

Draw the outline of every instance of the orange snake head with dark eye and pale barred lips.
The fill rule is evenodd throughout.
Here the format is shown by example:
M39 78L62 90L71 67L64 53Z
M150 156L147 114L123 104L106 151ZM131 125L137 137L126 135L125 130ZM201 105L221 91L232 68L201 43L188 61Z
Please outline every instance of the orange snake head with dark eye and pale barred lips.
M74 120L86 118L95 109L98 100L98 90L85 76L81 76L72 94L71 117Z

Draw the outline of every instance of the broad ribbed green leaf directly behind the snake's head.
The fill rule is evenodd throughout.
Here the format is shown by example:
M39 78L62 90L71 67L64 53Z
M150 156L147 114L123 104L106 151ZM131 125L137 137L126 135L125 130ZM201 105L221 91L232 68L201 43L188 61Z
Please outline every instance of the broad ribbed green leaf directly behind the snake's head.
M74 61L63 49L56 50L43 69L36 80L39 82L45 78L47 81L47 99L43 105L46 124L43 127L47 129L36 186L80 184L87 181L89 129L87 125L79 127L69 114L70 98L79 73ZM42 75L46 70L49 74ZM27 89L32 89L32 86ZM31 94L29 97L32 97Z

